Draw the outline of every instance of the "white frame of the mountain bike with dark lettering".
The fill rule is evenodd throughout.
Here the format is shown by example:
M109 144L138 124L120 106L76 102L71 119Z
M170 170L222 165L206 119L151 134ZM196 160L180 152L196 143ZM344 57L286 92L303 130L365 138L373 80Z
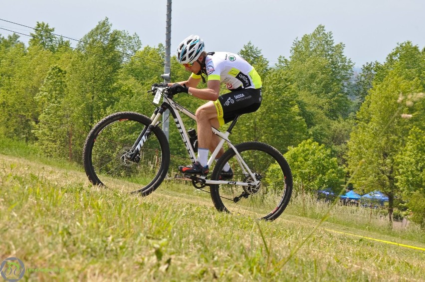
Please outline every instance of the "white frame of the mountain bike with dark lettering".
M195 157L195 152L194 149L192 147L191 144L189 144L189 136L188 133L186 132L186 128L185 125L183 124L183 120L182 117L180 116L180 113L183 113L184 115L188 116L189 118L191 118L192 120L196 121L196 117L195 115L190 112L189 110L187 110L186 108L184 108L183 106L181 106L180 104L178 104L177 102L175 102L172 99L169 99L167 97L167 94L164 93L164 89L166 88L159 88L156 92L155 98L154 98L154 103L156 103L157 105L159 104L159 98L161 96L164 96L164 101L161 104L161 106L159 106L157 109L159 108L165 108L170 110L171 114L174 117L174 122L176 123L177 129L180 132L180 135L182 137L183 142L185 143L185 147L188 151L189 157L192 161L192 163L195 163L196 161L196 157ZM168 105L168 106L166 106ZM152 115L151 120L151 126L155 127L158 126L162 117L162 113L164 111L155 111L155 113ZM205 179L205 176L201 176L199 177L200 179L204 179L202 182L205 184L233 184L233 185L240 185L240 186L256 186L259 184L259 180L256 179L255 174L249 169L248 165L245 163L245 161L243 160L243 158L241 157L241 155L239 154L239 152L236 150L236 147L228 140L228 136L230 134L229 131L226 131L224 133L216 130L215 128L212 127L213 130L213 134L215 134L216 136L218 136L220 138L220 141L218 142L218 145L215 147L213 153L211 154L209 160L208 160L208 166L211 167L211 165L213 164L213 161L215 159L215 157L217 156L219 150L223 147L224 142L227 143L228 147L233 149L233 151L236 154L236 159L237 162L239 163L243 174L245 174L246 176L250 176L252 180L254 180L253 182L247 183L247 182L238 182L238 181L224 181L224 180L209 180L209 179ZM145 136L143 136L143 138L139 141L138 145L137 145L137 149L140 150L140 148L143 146L144 142L147 140L146 134Z

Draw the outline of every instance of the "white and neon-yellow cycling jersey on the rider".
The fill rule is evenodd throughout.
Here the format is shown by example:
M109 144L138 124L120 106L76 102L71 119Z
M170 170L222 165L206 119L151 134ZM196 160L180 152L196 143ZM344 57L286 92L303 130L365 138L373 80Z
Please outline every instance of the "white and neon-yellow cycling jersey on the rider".
M205 59L208 80L219 80L228 90L240 88L261 88L261 78L247 61L239 55L215 52ZM193 78L200 75L192 74Z

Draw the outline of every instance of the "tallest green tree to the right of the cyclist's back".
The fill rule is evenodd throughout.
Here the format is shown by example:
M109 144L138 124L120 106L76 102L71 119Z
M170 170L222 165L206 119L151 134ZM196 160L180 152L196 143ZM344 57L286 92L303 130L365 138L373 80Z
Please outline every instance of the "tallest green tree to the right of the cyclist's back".
M335 44L332 32L319 25L296 39L289 59L279 57L277 68L293 85L310 137L332 145L332 128L352 109L348 98L353 63L344 56L344 44Z

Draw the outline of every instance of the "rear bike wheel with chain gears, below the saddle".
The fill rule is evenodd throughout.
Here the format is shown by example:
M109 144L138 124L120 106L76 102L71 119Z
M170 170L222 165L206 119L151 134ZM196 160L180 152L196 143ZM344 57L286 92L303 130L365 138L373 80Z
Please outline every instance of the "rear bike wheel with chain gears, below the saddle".
M220 180L226 162L233 170L228 184L211 185L211 197L219 211L243 216L275 220L289 203L292 194L292 173L283 155L274 147L261 142L237 144L237 152L255 175L255 179L241 165L240 157L228 149L215 164L212 180ZM238 186L232 182L253 183Z

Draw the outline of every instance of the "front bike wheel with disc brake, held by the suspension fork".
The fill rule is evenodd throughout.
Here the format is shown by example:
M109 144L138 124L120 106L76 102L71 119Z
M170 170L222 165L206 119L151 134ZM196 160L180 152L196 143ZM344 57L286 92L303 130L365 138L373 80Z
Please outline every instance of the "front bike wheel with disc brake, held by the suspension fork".
M163 131L155 127L137 160L129 159L131 147L151 122L132 112L115 113L101 120L89 133L83 149L90 182L143 196L158 188L170 165L170 146Z

